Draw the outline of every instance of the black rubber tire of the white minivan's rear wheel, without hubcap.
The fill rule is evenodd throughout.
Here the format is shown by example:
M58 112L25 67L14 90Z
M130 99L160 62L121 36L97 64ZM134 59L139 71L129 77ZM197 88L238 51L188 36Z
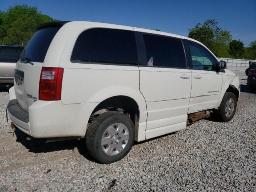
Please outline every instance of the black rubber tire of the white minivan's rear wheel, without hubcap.
M102 136L105 133L106 129L115 123L122 123L126 126L126 128L128 128L129 139L126 146L121 152L111 156L104 152L101 142ZM95 120L88 128L85 138L86 148L89 154L100 163L110 164L124 158L124 156L126 156L132 148L135 138L134 123L128 116L120 112L105 112L95 118Z

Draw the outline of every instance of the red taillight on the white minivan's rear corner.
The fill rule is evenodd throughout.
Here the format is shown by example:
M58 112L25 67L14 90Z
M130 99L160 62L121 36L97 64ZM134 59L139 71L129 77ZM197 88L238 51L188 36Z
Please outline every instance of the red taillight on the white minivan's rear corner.
M60 100L64 68L42 67L39 82L40 100Z

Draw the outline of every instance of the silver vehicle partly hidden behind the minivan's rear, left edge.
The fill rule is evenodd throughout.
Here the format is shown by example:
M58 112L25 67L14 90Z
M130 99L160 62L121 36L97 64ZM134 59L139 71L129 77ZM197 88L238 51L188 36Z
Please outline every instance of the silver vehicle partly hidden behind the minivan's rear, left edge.
M14 69L24 46L0 45L0 84L13 84Z

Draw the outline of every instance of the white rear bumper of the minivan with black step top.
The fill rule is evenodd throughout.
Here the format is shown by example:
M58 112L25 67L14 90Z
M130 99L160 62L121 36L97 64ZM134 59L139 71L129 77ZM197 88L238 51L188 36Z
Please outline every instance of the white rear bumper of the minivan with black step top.
M13 124L34 138L83 138L96 106L97 103L62 104L61 101L38 100L26 112L13 99L7 110Z

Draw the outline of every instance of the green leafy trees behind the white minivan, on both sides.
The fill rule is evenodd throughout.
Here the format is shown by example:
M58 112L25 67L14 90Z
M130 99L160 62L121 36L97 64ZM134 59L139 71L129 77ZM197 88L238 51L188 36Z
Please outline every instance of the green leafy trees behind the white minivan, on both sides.
M35 32L36 26L46 22L56 22L42 14L36 7L16 5L6 12L0 11L0 44L26 45ZM159 29L154 29L160 31ZM188 37L202 42L217 57L256 59L256 40L244 47L240 40L232 40L229 31L218 27L215 20L206 20L189 29Z

